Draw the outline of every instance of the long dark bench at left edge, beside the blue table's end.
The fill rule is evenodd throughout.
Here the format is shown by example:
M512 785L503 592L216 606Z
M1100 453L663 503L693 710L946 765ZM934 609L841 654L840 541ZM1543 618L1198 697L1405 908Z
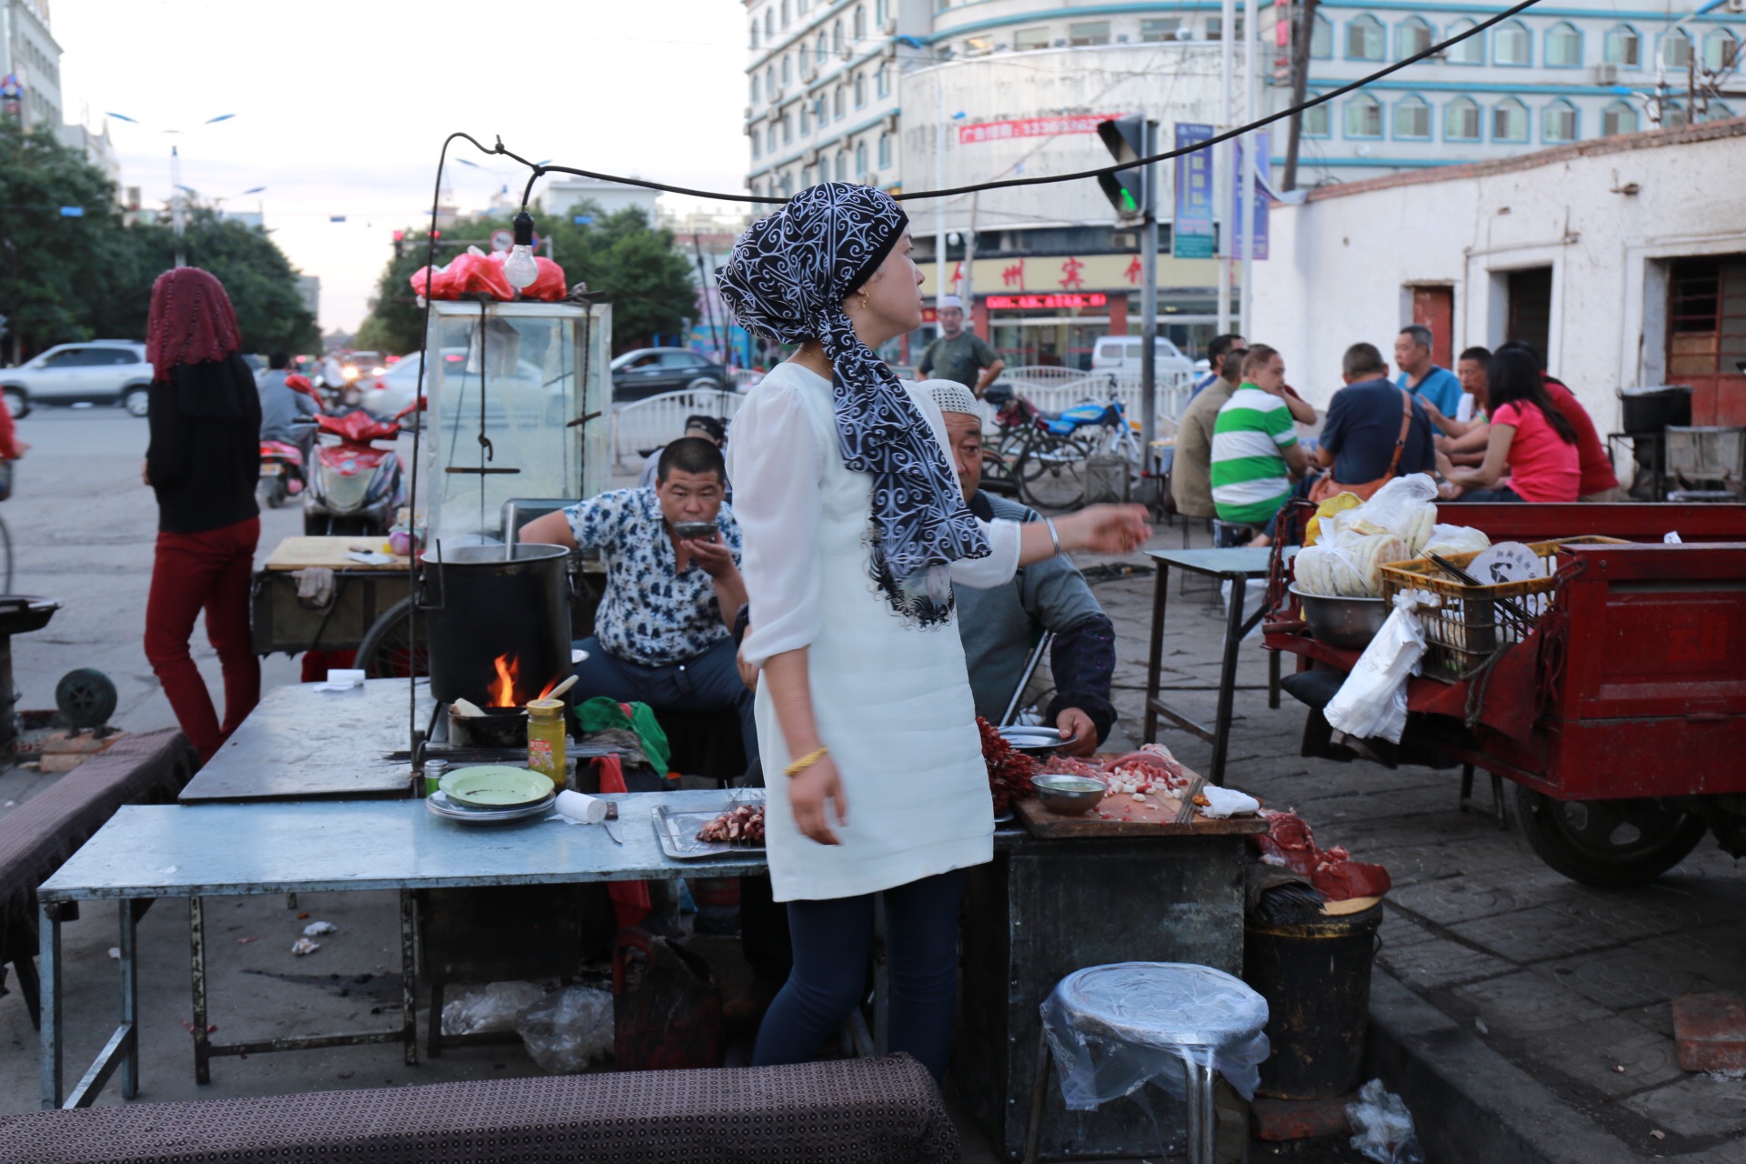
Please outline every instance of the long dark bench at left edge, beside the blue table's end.
M12 963L31 1026L42 1026L37 887L122 805L175 803L196 766L175 728L124 736L0 817L0 993Z

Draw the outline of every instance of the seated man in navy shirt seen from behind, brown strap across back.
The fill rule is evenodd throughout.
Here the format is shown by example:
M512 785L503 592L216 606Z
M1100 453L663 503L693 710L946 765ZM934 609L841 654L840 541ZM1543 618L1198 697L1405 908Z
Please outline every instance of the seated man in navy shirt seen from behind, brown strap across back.
M1341 379L1346 387L1327 407L1316 461L1334 469L1343 490L1369 497L1393 476L1437 469L1425 407L1388 382L1388 365L1376 344L1348 347Z

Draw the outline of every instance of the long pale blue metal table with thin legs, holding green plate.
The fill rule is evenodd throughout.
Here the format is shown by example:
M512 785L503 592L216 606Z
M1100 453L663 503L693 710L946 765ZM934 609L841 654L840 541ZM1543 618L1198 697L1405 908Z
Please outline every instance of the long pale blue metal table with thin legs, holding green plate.
M403 686L400 689L405 691ZM400 1042L407 1063L416 1063L414 890L670 880L705 871L711 876L751 876L765 871L761 852L691 862L670 860L662 852L650 820L655 805L704 811L723 801L721 792L630 792L608 799L620 801L623 845L599 827L546 820L459 825L430 815L416 799L122 808L37 892L42 913L42 1105L89 1106L117 1066L122 1096L133 1099L138 1094L134 927L143 906L157 897L189 899L190 969L197 984L196 1078L204 1084L210 1058L220 1054ZM400 890L400 1028L264 1044L211 1044L206 1037L206 998L199 988L206 960L203 899L332 890ZM63 1103L61 921L77 916L77 902L82 900L120 904L120 1024Z

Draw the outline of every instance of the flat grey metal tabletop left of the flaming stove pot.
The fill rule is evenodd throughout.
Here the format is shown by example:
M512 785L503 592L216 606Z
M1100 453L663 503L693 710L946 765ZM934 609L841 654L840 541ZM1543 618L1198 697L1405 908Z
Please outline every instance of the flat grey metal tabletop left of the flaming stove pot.
M218 754L189 780L183 805L210 801L386 799L412 796L412 764L388 759L405 750L405 679L367 679L351 691L316 691L302 682L272 688ZM435 702L417 681L424 726Z

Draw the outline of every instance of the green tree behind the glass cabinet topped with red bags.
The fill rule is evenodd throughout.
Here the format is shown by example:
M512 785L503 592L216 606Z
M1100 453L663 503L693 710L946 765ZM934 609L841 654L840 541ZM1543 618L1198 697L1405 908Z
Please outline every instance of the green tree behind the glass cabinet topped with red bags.
M592 216L590 223L574 218ZM506 220L457 218L442 229L436 265L445 265L468 244L484 248ZM534 230L552 239L552 253L569 284L587 283L613 304L613 347L643 347L655 335L679 332L695 311L691 264L674 248L670 230L650 225L648 215L627 208L601 215L583 202L562 215L534 215ZM424 312L412 291L412 276L424 267L430 241L423 229L405 230L402 253L389 258L375 284L370 314L358 328L358 346L409 353L424 342ZM541 248L543 253L543 248Z

